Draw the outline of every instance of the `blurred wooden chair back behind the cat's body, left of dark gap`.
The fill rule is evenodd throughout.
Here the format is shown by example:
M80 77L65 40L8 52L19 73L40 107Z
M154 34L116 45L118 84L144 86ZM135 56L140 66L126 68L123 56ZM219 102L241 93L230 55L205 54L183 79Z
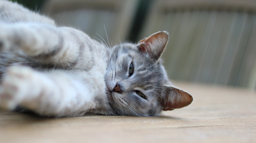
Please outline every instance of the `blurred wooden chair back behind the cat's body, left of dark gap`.
M126 40L137 4L137 0L47 0L43 11L57 24L78 28L100 40L102 36L109 45L106 33L113 44L119 38Z

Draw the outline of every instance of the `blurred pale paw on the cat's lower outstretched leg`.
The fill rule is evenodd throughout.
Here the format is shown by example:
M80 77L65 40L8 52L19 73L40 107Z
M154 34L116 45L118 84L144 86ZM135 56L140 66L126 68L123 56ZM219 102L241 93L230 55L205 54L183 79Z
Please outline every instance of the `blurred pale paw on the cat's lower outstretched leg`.
M14 109L29 99L35 89L33 70L28 67L14 66L7 70L0 85L0 107Z

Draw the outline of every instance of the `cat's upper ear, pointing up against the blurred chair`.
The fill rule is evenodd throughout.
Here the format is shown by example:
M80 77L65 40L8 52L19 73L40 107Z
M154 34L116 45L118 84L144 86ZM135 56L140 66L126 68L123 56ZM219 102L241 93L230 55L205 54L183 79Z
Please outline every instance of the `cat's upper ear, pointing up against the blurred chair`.
M169 34L166 31L160 31L144 38L138 42L138 48L142 53L145 53L152 58L158 60L169 40Z

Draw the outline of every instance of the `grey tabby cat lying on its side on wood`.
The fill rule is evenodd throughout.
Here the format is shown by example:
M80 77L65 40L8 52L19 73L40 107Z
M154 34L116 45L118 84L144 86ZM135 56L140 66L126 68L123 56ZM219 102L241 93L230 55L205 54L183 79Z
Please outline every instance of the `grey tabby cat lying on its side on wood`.
M0 107L43 116L156 116L192 96L169 82L168 33L108 47L17 3L0 1Z

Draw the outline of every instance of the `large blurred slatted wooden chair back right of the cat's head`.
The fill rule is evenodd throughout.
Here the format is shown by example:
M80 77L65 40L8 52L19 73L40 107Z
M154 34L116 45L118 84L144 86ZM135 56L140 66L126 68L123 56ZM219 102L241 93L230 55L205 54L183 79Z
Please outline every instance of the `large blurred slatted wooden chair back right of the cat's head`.
M173 80L256 89L256 1L155 0L140 37L168 31Z

